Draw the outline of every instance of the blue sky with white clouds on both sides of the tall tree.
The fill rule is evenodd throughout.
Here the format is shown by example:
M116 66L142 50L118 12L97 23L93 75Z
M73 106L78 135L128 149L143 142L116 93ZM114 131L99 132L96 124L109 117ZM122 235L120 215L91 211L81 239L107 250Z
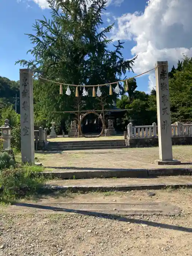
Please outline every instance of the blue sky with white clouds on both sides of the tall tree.
M191 35L192 1L146 2L108 0L106 14L103 15L106 26L115 22L112 37L125 42L124 58L130 59L139 54L133 67L135 75L153 68L157 60L168 60L172 67L181 59L182 53L191 55L192 52L189 48L192 39L186 38L186 31L190 31ZM20 66L15 65L15 61L31 59L26 52L32 45L25 33L33 33L35 19L41 19L43 15L50 18L50 10L41 8L42 3L46 0L0 0L0 76L18 80ZM179 16L182 19L178 19ZM178 34L182 40L178 39ZM133 75L132 72L127 74L128 77ZM149 91L149 87L154 86L154 74L136 80L138 90Z

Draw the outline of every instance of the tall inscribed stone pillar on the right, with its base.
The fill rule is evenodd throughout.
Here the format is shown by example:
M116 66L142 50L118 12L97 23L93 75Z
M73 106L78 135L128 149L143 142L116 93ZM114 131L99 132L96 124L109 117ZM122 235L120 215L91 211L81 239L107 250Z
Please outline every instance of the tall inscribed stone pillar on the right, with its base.
M167 61L157 61L156 67L155 76L159 140L159 160L157 160L156 163L160 165L177 165L178 161L173 160L172 153L168 63Z

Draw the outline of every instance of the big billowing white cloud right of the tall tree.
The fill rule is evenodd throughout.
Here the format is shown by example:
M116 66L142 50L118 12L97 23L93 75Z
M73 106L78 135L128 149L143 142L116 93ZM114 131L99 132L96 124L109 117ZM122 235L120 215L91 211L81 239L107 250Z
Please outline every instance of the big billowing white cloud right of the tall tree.
M138 54L136 73L153 68L157 60L167 60L172 67L183 53L192 56L191 10L192 0L149 0L143 13L117 18L112 37L135 41L131 53ZM149 77L150 89L155 82L153 74Z

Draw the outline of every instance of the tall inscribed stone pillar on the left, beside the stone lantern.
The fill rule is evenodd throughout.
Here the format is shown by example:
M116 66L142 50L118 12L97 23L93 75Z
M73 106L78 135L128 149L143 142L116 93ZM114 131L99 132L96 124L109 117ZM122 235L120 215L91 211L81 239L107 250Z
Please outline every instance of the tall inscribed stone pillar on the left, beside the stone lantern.
M34 163L33 76L29 68L20 69L20 127L22 162Z

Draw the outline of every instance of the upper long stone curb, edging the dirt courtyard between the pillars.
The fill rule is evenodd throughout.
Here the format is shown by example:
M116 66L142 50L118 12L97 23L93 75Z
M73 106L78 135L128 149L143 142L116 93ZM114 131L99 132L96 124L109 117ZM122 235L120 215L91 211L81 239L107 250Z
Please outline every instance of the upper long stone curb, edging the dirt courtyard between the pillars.
M56 170L55 170L56 171ZM89 178L147 178L157 176L178 176L192 175L192 168L173 168L173 169L127 169L127 170L101 170L101 171L79 171L79 172L41 172L48 178L61 179L89 179Z

